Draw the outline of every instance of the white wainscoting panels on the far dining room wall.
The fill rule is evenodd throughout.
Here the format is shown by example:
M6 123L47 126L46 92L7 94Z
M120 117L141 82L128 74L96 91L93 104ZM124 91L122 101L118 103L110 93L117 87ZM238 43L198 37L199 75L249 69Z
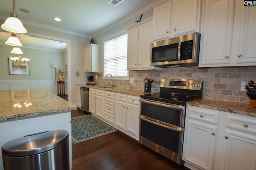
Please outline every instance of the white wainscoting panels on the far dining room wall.
M54 80L1 80L0 90L45 89L56 94ZM65 94L68 94L68 81L65 80Z

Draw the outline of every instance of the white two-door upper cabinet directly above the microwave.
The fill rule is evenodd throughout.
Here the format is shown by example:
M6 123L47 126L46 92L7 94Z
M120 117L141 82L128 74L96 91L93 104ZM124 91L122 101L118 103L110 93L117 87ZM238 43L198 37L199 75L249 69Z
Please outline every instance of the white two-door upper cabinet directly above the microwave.
M199 32L201 0L162 0L153 8L153 39Z

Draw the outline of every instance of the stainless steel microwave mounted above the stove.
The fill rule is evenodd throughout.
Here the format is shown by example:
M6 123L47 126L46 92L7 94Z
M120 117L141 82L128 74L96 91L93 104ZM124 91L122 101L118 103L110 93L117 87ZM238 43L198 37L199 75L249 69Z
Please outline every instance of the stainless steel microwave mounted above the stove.
M151 43L150 65L198 66L200 33L189 33Z

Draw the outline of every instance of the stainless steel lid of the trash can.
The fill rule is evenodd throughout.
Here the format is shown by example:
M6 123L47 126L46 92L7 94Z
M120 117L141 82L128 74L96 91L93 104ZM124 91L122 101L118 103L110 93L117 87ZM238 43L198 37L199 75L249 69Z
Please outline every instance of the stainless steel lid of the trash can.
M60 146L67 139L66 130L35 133L5 143L2 146L2 154L14 157L40 154Z

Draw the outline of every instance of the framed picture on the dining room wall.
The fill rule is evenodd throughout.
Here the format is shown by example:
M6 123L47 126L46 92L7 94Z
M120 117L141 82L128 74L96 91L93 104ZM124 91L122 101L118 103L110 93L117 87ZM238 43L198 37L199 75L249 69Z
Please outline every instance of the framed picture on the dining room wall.
M10 75L29 75L29 62L20 63L19 61L12 61L10 58L8 61Z

